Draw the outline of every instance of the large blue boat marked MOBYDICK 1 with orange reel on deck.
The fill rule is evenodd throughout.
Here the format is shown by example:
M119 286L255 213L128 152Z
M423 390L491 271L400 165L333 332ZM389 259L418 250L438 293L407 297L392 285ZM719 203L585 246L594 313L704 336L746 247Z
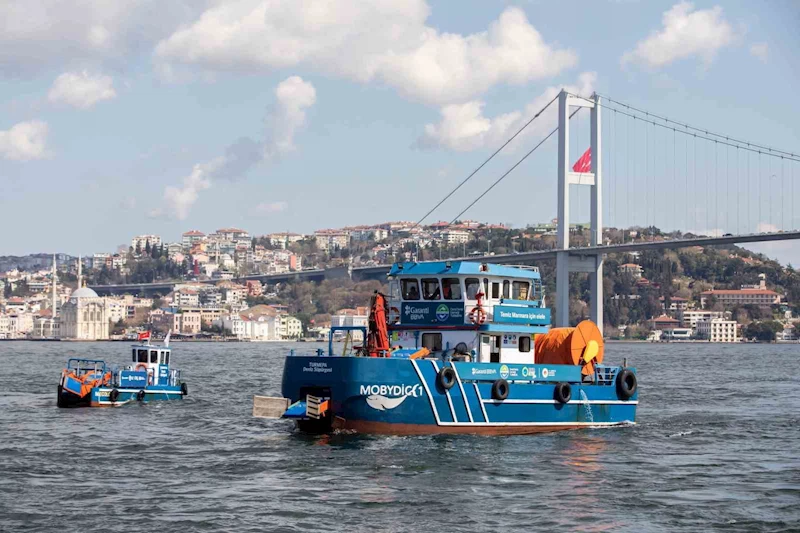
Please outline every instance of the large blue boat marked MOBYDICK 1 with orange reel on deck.
M282 397L254 415L309 432L525 434L633 424L632 368L602 364L591 322L550 329L538 269L395 264L355 356L286 358ZM334 328L336 329L336 328ZM344 328L358 329L358 328Z

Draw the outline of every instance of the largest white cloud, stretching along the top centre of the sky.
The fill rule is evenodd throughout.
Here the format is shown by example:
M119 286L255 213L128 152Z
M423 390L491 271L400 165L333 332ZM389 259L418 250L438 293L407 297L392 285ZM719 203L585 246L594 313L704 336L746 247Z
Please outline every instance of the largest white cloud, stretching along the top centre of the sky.
M162 40L156 58L172 75L170 65L181 64L250 72L303 65L434 104L553 76L577 61L518 8L470 35L427 26L429 14L424 0L233 0Z

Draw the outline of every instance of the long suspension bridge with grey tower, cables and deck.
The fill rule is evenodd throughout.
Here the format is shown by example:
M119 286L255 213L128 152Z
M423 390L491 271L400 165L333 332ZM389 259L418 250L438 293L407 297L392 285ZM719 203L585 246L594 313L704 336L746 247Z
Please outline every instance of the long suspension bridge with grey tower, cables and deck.
M552 113L546 112L556 102L557 126L462 209L451 224L557 134L556 247L491 257L492 262L517 264L556 260L557 326L568 325L570 272L589 276L591 318L595 323L603 323L602 276L606 254L800 239L800 207L795 209L795 204L800 203L797 152L694 126L610 96L587 97L564 90L450 190L416 225L421 226L509 144L515 140L522 142L523 132L531 124L552 119ZM584 110L587 112L581 113ZM588 195L584 195L587 189ZM570 221L574 214L587 211L582 199L588 199L590 239L589 246L576 248L570 243ZM623 231L621 242L610 242L604 240L604 224L610 228L659 228L675 237L630 239L631 232ZM463 259L485 261L486 257ZM348 274L368 278L382 276L388 270L388 265L356 267ZM319 269L238 279L276 283L316 281L328 275L329 272ZM339 275L337 271L335 276ZM174 283L164 282L92 288L98 294L112 294L158 292L171 290L172 286Z

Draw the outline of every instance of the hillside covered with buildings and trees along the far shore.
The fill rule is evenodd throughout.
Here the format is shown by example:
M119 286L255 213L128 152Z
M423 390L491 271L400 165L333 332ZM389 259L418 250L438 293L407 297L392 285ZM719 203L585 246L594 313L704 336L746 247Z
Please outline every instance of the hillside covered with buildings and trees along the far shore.
M138 235L129 246L84 258L0 257L0 338L122 338L145 328L192 338L322 337L331 324L365 324L364 306L373 291L384 288L381 283L345 278L264 286L236 279L464 256L491 261L495 254L554 248L556 224L515 229L471 220L387 222L309 235L221 228L208 234L189 230L171 242ZM574 245L589 242L584 225L574 224L571 233ZM657 228L611 228L604 242L685 236ZM546 294L554 294L554 264L539 267ZM570 311L576 323L588 316L589 287L572 275ZM100 297L83 286L163 280L172 282L172 290L154 298ZM610 338L793 340L800 327L800 273L736 246L611 254L604 280L604 329Z

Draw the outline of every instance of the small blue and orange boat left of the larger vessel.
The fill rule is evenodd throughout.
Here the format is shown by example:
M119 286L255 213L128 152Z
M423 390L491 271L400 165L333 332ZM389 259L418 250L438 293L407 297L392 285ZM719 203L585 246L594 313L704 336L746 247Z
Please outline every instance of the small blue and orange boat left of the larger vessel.
M58 384L58 407L117 407L130 402L180 400L189 393L181 371L170 368L169 334L163 346L131 347L131 365L111 369L105 361L67 361Z

